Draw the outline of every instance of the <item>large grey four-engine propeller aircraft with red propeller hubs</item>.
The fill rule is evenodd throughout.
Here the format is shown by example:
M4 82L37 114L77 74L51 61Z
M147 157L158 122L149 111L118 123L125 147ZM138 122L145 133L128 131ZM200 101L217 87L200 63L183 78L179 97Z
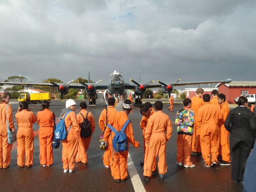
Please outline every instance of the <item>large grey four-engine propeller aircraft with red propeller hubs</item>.
M135 104L141 104L142 103L142 97L144 95L144 92L146 88L160 88L164 93L168 93L168 96L170 97L170 94L172 92L173 86L186 86L186 85L196 85L196 84L212 84L212 83L221 83L226 84L231 82L231 79L226 79L222 81L206 81L206 82L179 82L180 79L172 82L172 83L164 83L157 81L158 83L155 83L153 80L150 82L147 82L146 84L139 84L138 82L131 79L130 83L125 83L124 78L121 73L117 72L116 70L113 73L110 73L110 77L108 79L108 83L101 83L102 80L99 80L93 84L85 84L83 82L78 82L76 84L72 83L72 81L67 82L66 84L60 84L60 83L26 83L26 82L20 82L20 83L12 83L12 82L0 82L0 84L8 84L8 85L25 85L25 86L48 86L48 87L57 87L58 92L61 95L61 100L63 100L63 95L68 94L68 90L70 88L74 89L85 89L89 96L89 105L95 105L96 104L96 90L105 90L104 91L104 98L106 100L106 97L112 96L115 99L117 97L121 96L128 96L128 89L134 90L134 98ZM90 73L89 73L89 80L90 82Z

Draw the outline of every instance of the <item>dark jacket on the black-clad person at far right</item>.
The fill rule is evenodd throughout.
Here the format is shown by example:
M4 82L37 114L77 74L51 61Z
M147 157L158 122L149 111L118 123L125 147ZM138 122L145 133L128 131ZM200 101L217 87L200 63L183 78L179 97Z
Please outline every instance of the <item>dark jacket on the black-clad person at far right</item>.
M236 107L229 112L224 126L230 132L230 148L239 146L250 152L256 133L254 113L247 107Z

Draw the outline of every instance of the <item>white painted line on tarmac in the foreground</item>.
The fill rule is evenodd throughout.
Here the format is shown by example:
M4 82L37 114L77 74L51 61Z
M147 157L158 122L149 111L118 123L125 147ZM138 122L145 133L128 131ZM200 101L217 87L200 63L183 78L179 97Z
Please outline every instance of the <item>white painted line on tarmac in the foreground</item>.
M128 158L127 158L127 169L128 169L130 178L132 180L132 185L133 185L134 191L135 192L146 192L146 190L140 180L140 176L134 166L134 163L132 161L130 153L128 153Z

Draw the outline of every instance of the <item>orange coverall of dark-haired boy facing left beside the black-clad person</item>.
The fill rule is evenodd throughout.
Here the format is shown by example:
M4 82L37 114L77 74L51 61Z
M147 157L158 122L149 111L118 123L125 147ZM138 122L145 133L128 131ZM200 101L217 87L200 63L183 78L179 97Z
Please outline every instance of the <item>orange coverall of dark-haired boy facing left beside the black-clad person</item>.
M229 132L224 127L224 122L229 113L229 107L226 102L220 105L220 112L223 116L223 121L218 122L220 135L219 154L222 156L223 161L230 162Z

